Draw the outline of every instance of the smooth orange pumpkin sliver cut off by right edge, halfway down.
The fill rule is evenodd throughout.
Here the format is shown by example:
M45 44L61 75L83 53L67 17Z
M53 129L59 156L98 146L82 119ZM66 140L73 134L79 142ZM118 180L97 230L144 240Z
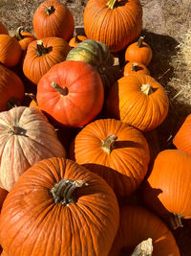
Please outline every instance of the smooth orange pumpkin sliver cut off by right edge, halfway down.
M173 139L173 144L178 150L191 155L191 114L186 117Z

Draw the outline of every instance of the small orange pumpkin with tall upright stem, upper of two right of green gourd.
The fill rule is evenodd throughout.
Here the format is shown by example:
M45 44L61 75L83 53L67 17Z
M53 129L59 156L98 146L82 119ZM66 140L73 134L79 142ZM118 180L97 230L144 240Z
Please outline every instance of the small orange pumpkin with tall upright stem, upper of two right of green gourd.
M148 66L153 52L148 43L144 42L144 36L140 36L137 42L130 44L125 51L126 61L135 61Z

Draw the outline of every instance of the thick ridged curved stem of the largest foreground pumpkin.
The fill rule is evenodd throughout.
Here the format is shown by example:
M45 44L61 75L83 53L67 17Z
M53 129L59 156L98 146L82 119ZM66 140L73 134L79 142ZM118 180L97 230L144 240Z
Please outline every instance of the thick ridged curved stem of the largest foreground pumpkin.
M60 181L55 183L51 189L54 202L60 202L65 205L76 202L76 188L81 188L83 186L88 186L88 183L84 180L74 180L67 178L60 179Z

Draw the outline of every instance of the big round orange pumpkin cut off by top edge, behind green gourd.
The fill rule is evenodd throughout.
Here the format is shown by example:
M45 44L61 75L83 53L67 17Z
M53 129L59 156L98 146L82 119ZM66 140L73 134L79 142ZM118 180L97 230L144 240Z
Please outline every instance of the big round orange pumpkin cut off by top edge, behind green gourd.
M83 21L87 37L105 43L115 53L140 34L142 7L138 0L89 0Z

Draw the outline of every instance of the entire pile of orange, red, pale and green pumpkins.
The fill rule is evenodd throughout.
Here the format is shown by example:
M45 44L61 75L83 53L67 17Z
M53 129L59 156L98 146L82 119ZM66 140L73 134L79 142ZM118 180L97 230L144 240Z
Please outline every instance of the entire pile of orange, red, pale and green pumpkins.
M83 19L78 35L53 0L33 13L34 34L0 23L2 255L180 256L191 118L156 150L169 99L138 0L89 0Z

